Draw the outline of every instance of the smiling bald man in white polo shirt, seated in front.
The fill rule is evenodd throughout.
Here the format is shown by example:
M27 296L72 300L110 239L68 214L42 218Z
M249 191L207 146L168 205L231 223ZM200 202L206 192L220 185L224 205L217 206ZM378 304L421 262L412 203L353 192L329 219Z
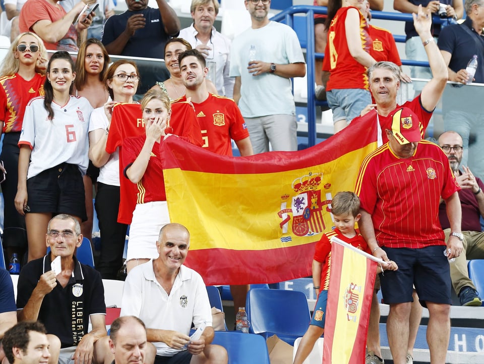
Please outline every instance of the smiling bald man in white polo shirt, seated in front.
M210 344L214 330L205 283L183 265L189 247L185 226L171 223L161 228L159 256L133 268L126 278L121 316L133 315L146 324L147 339L156 347L155 364L226 364L226 350ZM190 339L192 322L195 328L205 325L199 339Z

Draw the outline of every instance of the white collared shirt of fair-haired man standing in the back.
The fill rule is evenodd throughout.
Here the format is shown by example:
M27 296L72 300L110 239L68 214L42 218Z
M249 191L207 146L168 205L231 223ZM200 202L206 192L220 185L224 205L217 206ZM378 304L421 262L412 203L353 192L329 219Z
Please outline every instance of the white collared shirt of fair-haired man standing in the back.
M198 30L195 29L194 23L188 28L180 30L178 37L188 41L192 47L196 48L197 45L202 44L197 39ZM215 27L212 27L212 36L207 43L208 46L213 48L213 59L205 59L206 62L216 63L216 80L215 87L217 92L221 96L233 98L233 85L235 79L229 76L230 73L230 44L231 41L225 35L219 33Z

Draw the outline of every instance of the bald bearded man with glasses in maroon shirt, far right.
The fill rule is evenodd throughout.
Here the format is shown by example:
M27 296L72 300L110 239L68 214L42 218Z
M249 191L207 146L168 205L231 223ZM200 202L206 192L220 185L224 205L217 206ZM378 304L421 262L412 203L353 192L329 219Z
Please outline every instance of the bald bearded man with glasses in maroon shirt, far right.
M439 145L447 155L455 179L461 188L458 194L462 206L464 250L450 265L450 278L462 306L480 306L482 300L469 279L466 259L484 259L484 233L480 226L480 217L484 217L484 193L482 193L484 184L479 178L474 177L468 167L462 166L459 169L462 161L462 144L462 137L455 131L446 131L439 137ZM443 201L439 206L439 220L447 240L450 225Z

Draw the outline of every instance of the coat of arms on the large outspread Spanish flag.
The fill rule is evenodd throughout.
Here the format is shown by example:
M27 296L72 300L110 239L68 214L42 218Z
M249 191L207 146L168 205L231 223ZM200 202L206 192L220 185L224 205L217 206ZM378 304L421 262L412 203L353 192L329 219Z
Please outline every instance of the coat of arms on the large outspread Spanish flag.
M309 173L309 175L296 178L291 185L293 192L281 196L281 209L278 212L278 216L282 219L280 223L283 234L281 241L291 241L290 237L284 236L285 234L311 236L325 230L325 212L329 215L329 209L326 210L325 205L329 207L331 193L328 191L323 200L321 187L329 190L331 185L321 186L322 177L322 173Z

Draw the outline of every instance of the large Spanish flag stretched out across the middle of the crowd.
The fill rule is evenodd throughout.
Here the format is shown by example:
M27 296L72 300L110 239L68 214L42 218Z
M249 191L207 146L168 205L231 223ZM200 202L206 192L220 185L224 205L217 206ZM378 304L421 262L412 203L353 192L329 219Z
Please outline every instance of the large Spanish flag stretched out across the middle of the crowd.
M305 150L250 157L166 138L160 154L170 219L191 234L186 265L207 285L311 275L314 245L333 226L332 196L354 190L377 134L368 118Z

